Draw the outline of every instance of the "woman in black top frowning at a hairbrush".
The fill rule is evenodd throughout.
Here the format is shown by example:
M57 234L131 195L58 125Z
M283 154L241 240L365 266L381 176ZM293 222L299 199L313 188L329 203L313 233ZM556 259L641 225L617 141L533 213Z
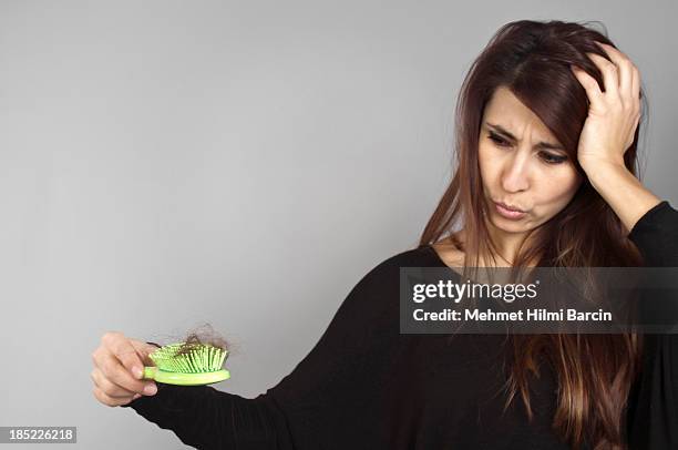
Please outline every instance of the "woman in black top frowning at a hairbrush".
M254 399L156 388L133 376L155 347L107 333L94 396L197 448L677 446L670 335L399 333L400 267L678 266L678 212L635 176L641 98L600 33L502 27L463 83L456 172L420 245L370 270L291 374Z

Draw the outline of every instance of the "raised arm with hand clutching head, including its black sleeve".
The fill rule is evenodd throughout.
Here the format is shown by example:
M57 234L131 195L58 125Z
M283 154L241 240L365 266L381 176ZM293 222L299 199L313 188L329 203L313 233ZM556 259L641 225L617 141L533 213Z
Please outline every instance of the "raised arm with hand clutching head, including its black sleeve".
M599 42L598 42L599 43ZM577 160L594 188L630 231L646 266L678 266L678 212L644 187L624 165L640 120L638 69L618 49L599 43L587 53L603 73L605 92L573 69L589 100ZM678 299L675 299L678 301ZM631 449L678 448L678 335L645 335L640 378L629 398Z

